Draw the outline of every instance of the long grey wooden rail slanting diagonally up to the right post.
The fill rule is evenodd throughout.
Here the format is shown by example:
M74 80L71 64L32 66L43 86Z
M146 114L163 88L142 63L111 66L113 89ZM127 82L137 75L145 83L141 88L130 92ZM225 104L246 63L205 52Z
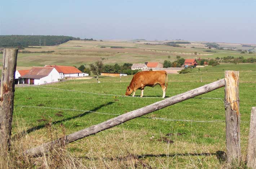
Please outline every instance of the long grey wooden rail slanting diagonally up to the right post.
M155 103L153 103L151 105L148 105L148 106L145 106L143 108L130 111L128 113L119 115L118 117L112 118L112 119L107 120L105 122L102 122L100 124L93 125L91 127L82 129L78 132L69 134L65 137L64 141L65 141L66 144L74 142L74 141L79 140L81 138L90 136L92 134L96 134L96 133L101 132L103 130L106 130L106 129L109 129L109 128L114 127L116 125L127 122L128 120L140 117L140 116L145 115L145 114L149 114L153 111L163 109L167 106L171 106L171 105L176 104L178 102L193 98L195 96L202 95L204 93L208 93L210 91L216 90L216 89L218 89L220 87L224 87L224 86L225 86L225 79L221 79L219 81L216 81L216 82L213 82L213 83L210 83L210 84L206 84L202 87L198 87L198 88L195 88L193 90L187 91L185 93L170 97L168 99L155 102ZM45 152L47 152L54 144L59 144L60 142L61 142L61 140L55 140L53 142L44 143L43 145L35 147L34 149L27 150L25 153L30 155L30 156L34 156L34 157L35 156L40 156L40 155L44 154Z

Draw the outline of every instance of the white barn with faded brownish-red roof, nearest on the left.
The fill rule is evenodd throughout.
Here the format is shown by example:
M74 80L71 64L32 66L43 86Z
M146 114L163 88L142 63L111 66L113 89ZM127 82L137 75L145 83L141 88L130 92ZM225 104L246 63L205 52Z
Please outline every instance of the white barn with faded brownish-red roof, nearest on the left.
M29 72L19 77L19 82L24 84L45 84L58 82L59 72L53 67L32 67Z

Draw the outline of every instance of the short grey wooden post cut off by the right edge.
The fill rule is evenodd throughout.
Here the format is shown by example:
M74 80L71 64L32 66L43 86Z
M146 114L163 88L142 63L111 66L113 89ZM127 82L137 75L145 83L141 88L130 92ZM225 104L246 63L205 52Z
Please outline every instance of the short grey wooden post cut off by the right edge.
M252 107L246 164L256 168L256 107Z

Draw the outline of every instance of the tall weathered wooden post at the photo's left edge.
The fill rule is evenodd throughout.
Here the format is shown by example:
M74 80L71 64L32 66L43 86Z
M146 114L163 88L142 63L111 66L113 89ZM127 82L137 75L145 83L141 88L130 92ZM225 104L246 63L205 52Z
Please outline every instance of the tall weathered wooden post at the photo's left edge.
M4 49L0 89L0 146L10 150L14 100L14 82L18 49Z

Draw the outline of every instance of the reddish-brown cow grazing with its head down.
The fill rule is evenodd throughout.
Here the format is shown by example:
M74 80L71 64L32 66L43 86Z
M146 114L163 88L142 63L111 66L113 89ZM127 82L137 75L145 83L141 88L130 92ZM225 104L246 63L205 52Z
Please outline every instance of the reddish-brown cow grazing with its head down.
M132 81L129 86L127 86L125 95L129 96L134 91L135 95L136 90L141 90L141 97L143 96L144 87L150 86L154 87L159 84L163 90L163 98L165 97L165 92L167 89L167 72L160 71L143 71L134 74Z

